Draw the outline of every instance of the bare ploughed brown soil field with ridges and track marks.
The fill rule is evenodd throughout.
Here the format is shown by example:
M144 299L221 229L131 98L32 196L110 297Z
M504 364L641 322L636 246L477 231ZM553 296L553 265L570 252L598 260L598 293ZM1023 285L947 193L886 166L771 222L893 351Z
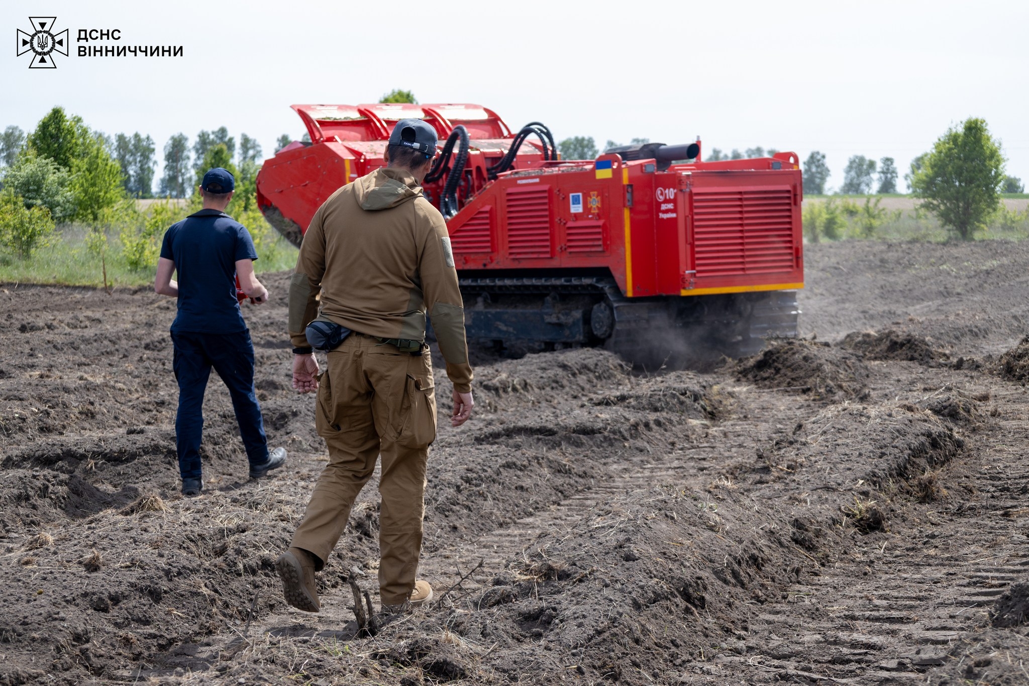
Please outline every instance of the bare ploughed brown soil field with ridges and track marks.
M326 461L285 276L245 317L289 463L247 479L212 380L192 499L174 303L5 284L0 684L1029 683L1027 280L1029 244L809 246L804 339L711 372L476 352L430 454L437 600L375 636L375 482L320 614L274 571Z

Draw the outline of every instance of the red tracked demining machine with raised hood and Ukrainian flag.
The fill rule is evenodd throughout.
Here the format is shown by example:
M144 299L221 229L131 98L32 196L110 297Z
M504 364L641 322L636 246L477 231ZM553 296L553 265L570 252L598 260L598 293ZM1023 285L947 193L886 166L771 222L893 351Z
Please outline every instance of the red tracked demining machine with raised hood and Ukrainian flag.
M342 185L383 166L400 119L432 124L425 194L448 222L469 339L604 346L651 366L796 335L802 177L792 152L701 161L646 143L561 159L549 130L470 104L293 105L310 143L264 161L257 202L294 245Z

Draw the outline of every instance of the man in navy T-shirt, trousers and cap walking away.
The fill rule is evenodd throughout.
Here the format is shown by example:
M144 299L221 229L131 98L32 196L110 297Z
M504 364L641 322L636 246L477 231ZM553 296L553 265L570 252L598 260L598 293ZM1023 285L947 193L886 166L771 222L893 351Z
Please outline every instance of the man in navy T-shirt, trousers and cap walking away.
M260 405L254 393L254 349L240 303L236 278L252 302L268 300L268 290L254 276L257 259L253 241L243 224L225 214L236 180L221 168L204 175L200 192L204 209L172 224L165 233L157 260L154 290L178 298L172 323L175 377L179 382L179 410L175 441L179 454L182 493L196 496L204 489L200 443L204 430L204 391L211 367L228 387L250 461L250 477L260 478L286 461L286 450L268 449ZM178 282L172 273L178 272Z

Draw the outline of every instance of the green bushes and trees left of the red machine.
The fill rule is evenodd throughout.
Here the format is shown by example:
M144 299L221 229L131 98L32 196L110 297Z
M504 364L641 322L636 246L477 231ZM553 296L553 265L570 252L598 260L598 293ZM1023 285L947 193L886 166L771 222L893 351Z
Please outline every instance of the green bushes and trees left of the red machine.
M289 143L288 136L279 140ZM165 145L158 194L188 198L200 209L196 192L204 172L223 167L236 176L236 195L227 208L244 223L255 243L269 226L256 207L256 178L261 146L247 134L239 140L225 127L201 131L190 144L175 134ZM0 248L28 258L38 248L60 240L58 224L77 222L90 228L86 247L103 256L113 230L133 269L156 259L156 240L182 208L169 203L141 211L135 201L153 197L155 146L139 132L113 137L91 129L82 118L55 107L26 134L7 127L0 134Z

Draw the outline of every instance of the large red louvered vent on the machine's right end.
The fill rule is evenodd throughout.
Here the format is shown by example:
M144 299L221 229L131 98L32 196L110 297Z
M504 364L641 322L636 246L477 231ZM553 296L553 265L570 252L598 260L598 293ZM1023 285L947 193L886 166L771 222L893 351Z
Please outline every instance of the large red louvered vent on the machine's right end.
M698 277L793 268L792 191L694 191Z

